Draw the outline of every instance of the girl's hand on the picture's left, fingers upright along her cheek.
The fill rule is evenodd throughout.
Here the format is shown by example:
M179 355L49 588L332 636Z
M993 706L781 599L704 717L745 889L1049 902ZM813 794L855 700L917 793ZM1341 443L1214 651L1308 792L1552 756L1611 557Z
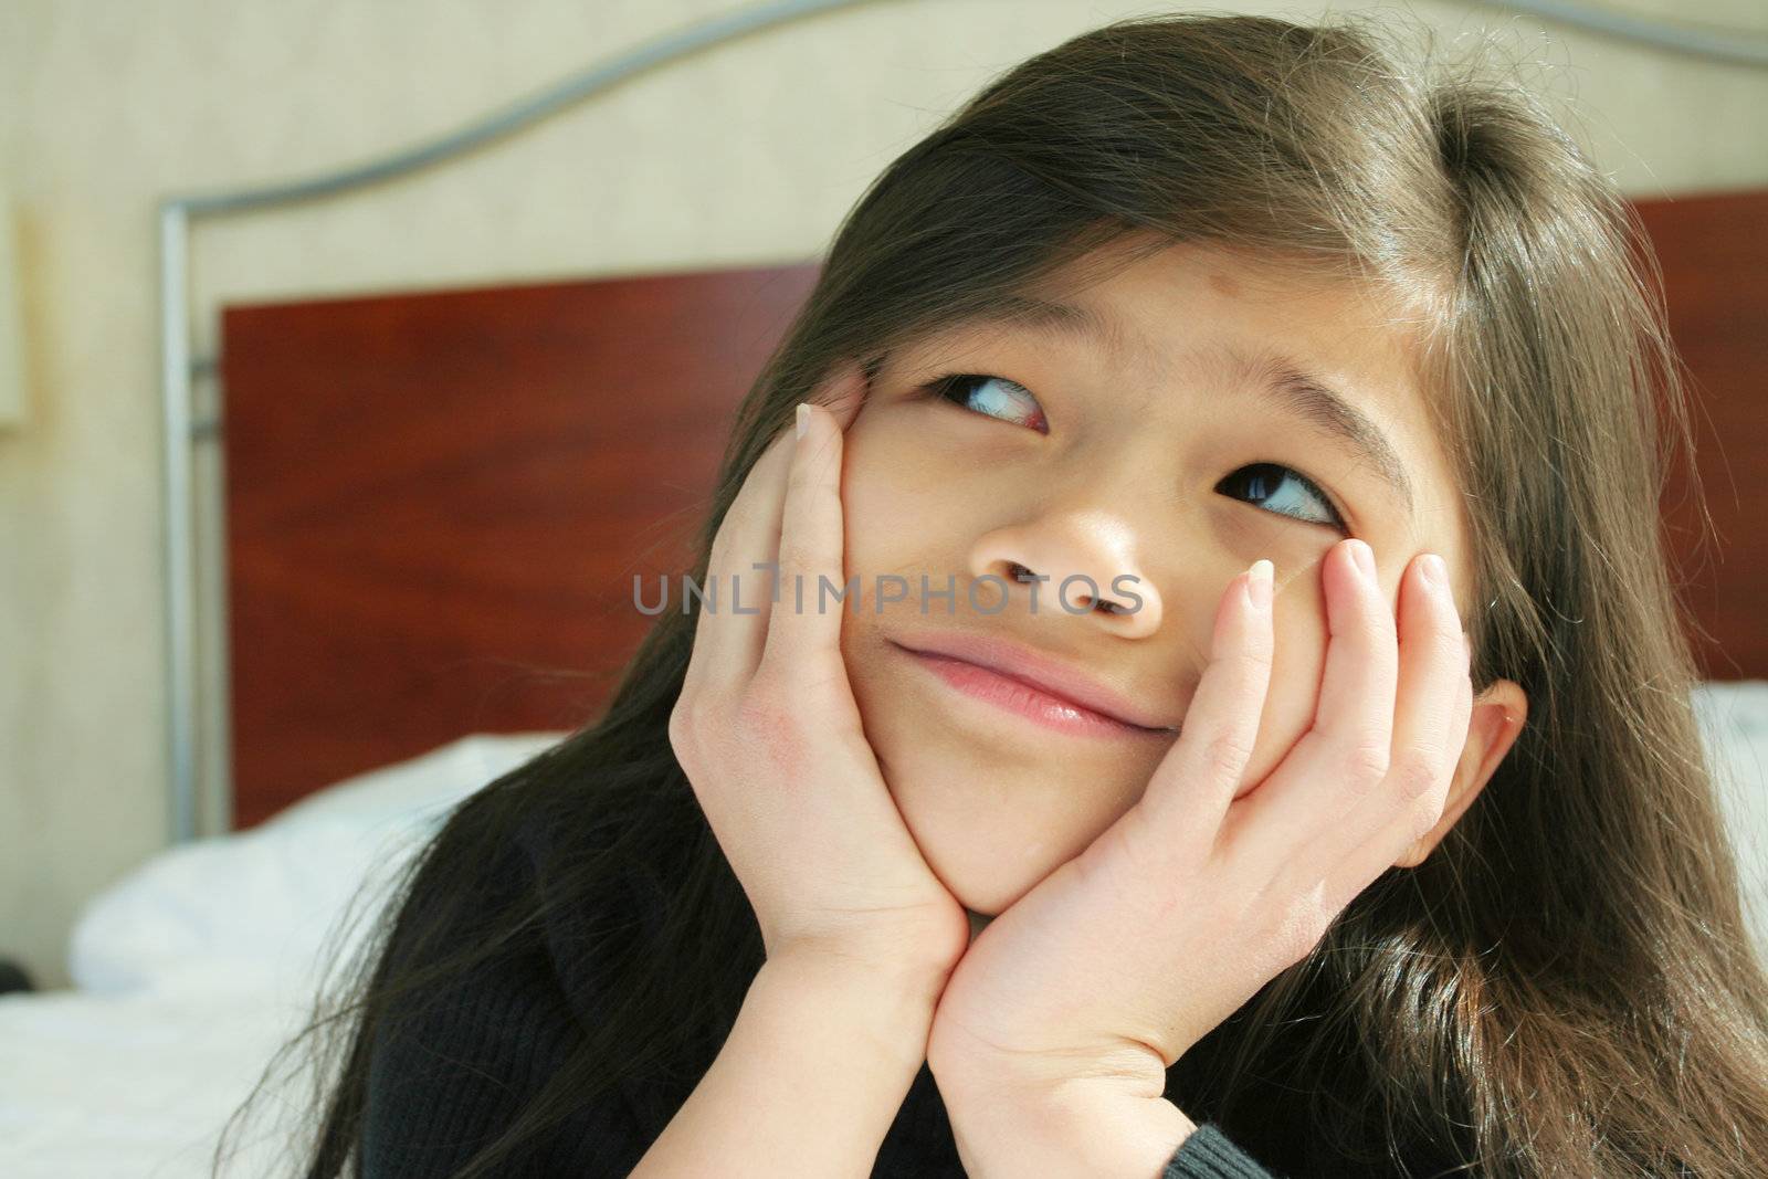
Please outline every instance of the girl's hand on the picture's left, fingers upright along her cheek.
M859 368L845 366L813 394L829 405L808 408L803 437L781 431L750 470L713 541L716 608L700 606L668 734L769 960L845 960L942 983L969 947L969 917L884 785L842 659L849 603L819 587L845 583L842 444L863 392ZM737 582L743 613L732 612Z

